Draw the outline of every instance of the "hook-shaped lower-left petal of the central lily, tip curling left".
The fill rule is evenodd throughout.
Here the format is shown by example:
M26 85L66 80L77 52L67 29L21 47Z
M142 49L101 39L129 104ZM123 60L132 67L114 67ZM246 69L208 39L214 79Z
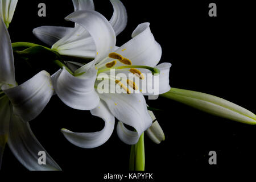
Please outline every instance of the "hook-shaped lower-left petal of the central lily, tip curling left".
M114 130L115 118L110 113L104 101L100 101L99 105L90 110L92 115L102 118L105 121L105 127L101 131L95 133L73 133L67 129L62 129L61 132L65 138L75 146L81 148L95 148L104 144L112 135Z

